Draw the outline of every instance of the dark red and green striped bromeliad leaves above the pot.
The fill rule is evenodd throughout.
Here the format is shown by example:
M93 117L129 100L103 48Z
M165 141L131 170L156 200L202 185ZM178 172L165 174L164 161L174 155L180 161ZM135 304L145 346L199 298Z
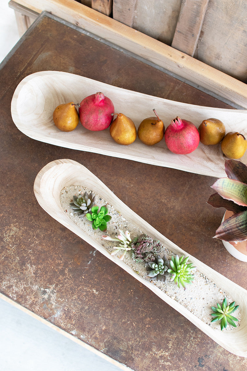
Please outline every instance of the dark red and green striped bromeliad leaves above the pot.
M247 240L247 166L241 161L225 160L226 178L218 179L207 203L233 211L233 216L221 223L214 238L228 242Z

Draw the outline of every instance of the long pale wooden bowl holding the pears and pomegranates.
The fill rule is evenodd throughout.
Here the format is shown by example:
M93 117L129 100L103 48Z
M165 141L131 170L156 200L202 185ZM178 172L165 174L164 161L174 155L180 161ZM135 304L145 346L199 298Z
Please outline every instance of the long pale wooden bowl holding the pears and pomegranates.
M17 86L11 102L11 114L17 128L30 138L87 152L127 158L147 164L176 168L191 173L224 177L224 158L220 145L198 148L188 155L170 152L164 138L154 146L138 138L128 146L110 137L109 129L92 132L80 123L72 132L62 132L53 123L53 111L59 104L80 103L87 95L102 91L114 104L115 112L130 117L138 128L140 122L154 116L153 108L167 127L176 116L192 121L197 127L204 119L224 122L226 132L238 131L247 137L247 111L196 106L117 88L83 76L59 71L36 72ZM247 162L247 153L241 158Z

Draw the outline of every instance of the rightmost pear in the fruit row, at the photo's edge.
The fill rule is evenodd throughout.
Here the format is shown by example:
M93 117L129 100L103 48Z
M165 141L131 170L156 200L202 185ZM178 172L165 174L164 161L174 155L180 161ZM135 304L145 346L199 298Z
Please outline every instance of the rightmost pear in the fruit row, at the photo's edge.
M221 142L221 150L228 158L237 160L242 157L247 149L247 140L238 132L227 133Z

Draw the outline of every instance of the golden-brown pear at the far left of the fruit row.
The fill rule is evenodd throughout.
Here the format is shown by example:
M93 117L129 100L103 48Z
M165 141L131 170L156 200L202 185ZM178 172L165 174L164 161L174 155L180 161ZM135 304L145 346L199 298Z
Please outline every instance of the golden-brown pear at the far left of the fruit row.
M79 123L79 114L73 102L60 104L54 109L53 121L61 131L72 131Z

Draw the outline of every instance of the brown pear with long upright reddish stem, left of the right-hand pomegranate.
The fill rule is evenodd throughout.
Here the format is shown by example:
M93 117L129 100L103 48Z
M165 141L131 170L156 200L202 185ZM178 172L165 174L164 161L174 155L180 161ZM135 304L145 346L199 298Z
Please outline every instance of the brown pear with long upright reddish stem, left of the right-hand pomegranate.
M141 121L137 130L138 138L146 145L154 145L164 137L165 128L163 121L159 119L155 109L153 111L156 117L145 118Z

